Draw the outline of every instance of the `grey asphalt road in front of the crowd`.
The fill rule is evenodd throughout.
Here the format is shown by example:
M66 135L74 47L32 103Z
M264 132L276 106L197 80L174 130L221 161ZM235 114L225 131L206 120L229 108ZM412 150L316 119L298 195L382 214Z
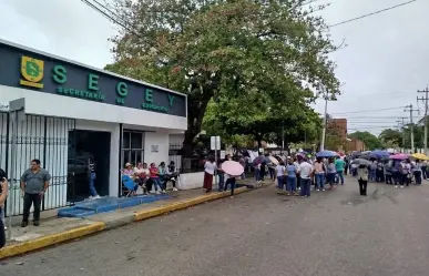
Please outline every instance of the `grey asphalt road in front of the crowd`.
M266 187L2 262L23 276L429 275L429 183Z

